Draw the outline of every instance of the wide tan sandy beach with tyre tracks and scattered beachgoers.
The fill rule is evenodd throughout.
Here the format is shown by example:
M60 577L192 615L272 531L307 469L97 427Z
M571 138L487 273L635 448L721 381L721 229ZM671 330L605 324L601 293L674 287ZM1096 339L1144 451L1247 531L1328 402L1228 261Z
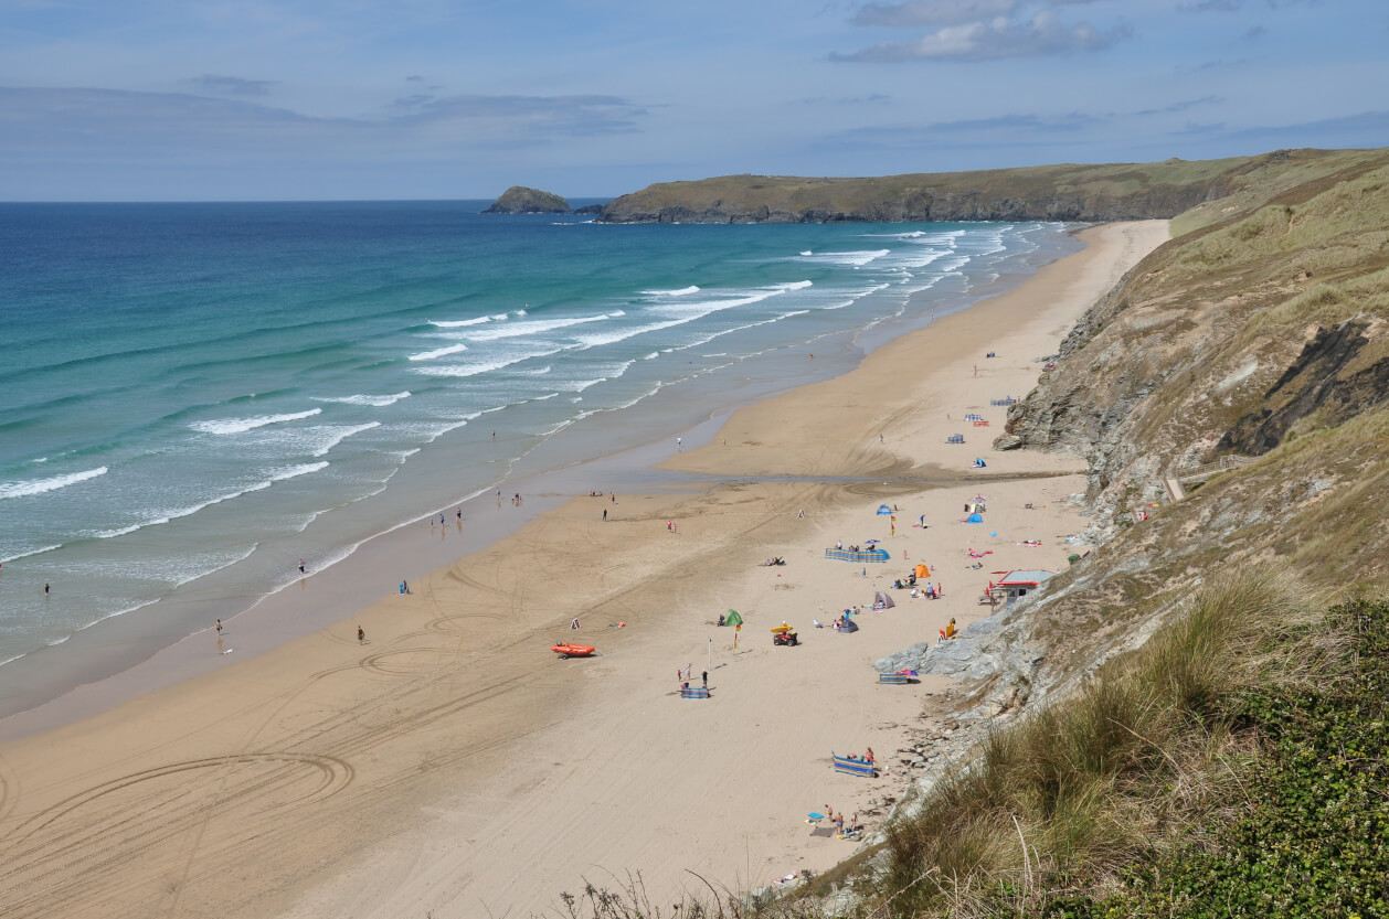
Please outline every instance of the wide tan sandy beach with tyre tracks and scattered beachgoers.
M394 540L283 597L311 608L311 633L276 627L271 607L225 623L221 650L256 657L157 691L85 687L119 704L0 743L0 916L557 915L585 879L639 872L674 902L703 888L689 872L751 888L832 866L854 844L813 836L807 812L900 794L892 754L949 684L876 686L872 662L988 615L990 572L1060 569L1078 550L1067 498L1083 464L993 453L1004 410L990 400L1026 394L1036 358L1167 222L1081 237L847 375L740 410L697 448L664 444L664 468L721 484L556 496L485 547L419 526L418 547ZM961 523L979 494L986 523ZM868 539L892 561L824 557ZM992 553L981 569L971 548ZM342 619L400 579L404 551L428 571L413 593ZM897 590L874 612L875 590L917 562L943 598ZM857 633L814 627L854 605ZM736 650L714 625L728 609L746 621ZM772 646L782 621L800 647ZM554 640L599 654L560 661ZM707 672L710 700L679 698L686 666L696 686ZM868 747L881 779L829 768L832 751Z

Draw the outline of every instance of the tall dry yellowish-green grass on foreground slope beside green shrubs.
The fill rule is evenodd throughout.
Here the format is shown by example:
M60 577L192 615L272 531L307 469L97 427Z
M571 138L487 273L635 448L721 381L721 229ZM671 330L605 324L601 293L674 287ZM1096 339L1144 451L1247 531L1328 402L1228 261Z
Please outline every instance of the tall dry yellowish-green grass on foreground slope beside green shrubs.
M990 733L892 827L878 902L968 916L1057 884L1104 888L1239 801L1256 744L1232 700L1310 682L1335 647L1313 630L1313 597L1267 569L1221 579L1074 697Z

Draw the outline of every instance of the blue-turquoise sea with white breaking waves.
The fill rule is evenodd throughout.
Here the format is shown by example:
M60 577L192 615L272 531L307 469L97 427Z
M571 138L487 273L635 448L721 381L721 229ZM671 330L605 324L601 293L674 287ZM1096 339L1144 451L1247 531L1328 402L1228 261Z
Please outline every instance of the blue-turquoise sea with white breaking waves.
M486 204L0 204L0 675L114 619L189 634L301 558L843 372L1078 248Z

